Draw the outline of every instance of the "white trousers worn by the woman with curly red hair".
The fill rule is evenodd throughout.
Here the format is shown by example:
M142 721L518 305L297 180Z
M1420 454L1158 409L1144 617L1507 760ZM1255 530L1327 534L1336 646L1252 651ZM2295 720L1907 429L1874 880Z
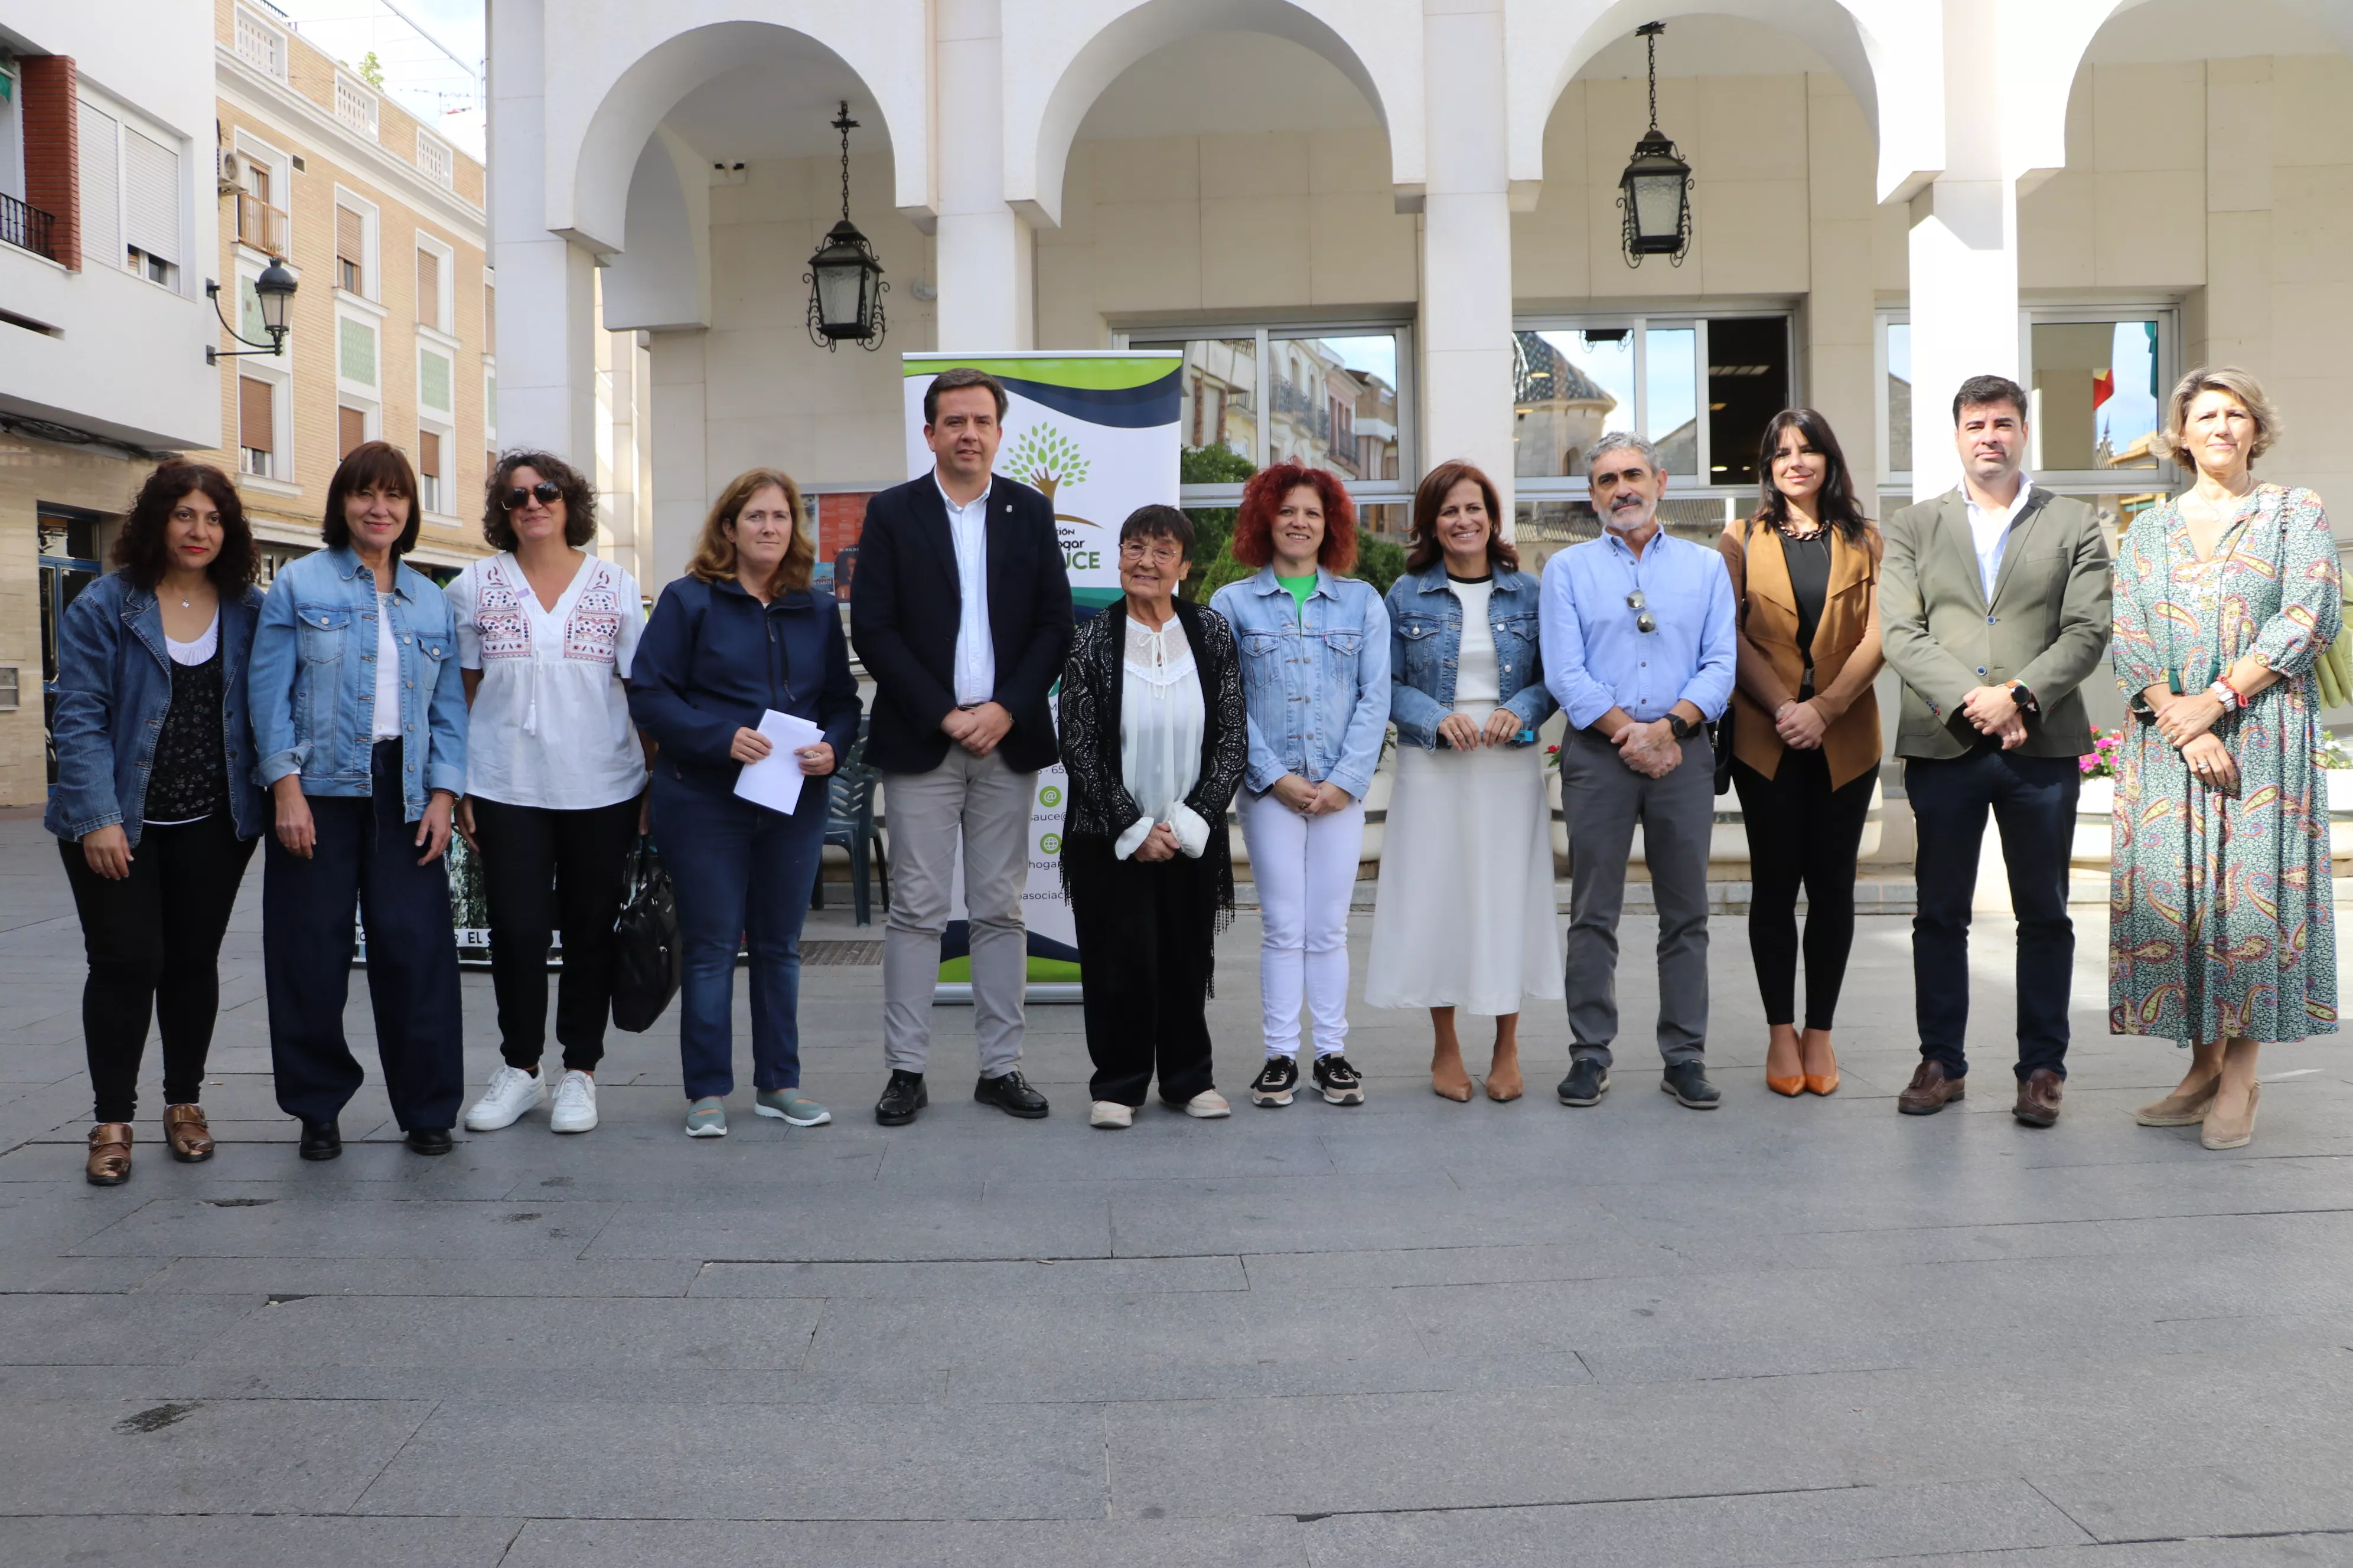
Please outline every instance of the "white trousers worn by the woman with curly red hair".
M1268 1056L1299 1056L1299 1006L1315 1056L1348 1044L1348 893L1365 849L1365 802L1299 816L1273 790L1235 797L1249 875L1259 884L1259 1009Z

